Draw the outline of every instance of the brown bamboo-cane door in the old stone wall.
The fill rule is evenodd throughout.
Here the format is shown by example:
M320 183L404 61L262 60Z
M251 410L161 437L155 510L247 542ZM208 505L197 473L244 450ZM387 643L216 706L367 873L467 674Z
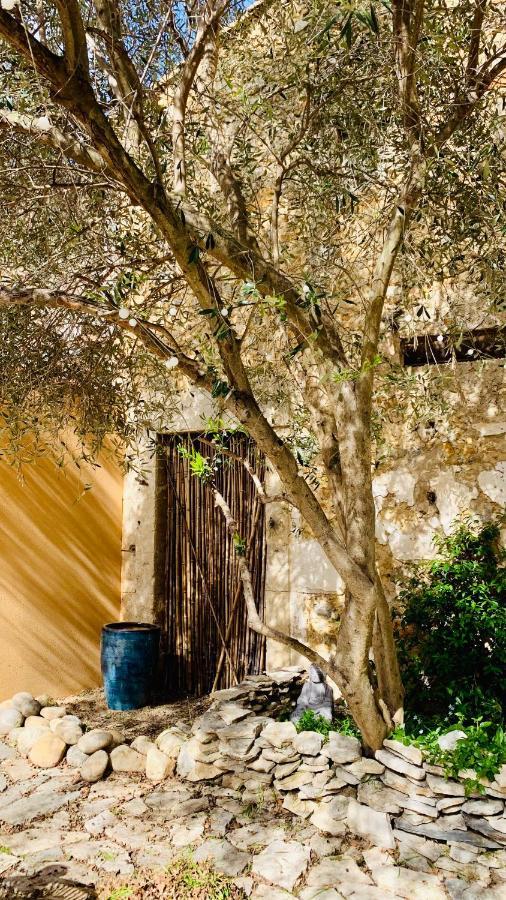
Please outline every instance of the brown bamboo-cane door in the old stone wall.
M202 438L202 436L201 436ZM248 628L232 540L209 485L190 473L180 447L193 447L210 461L219 452L197 434L160 436L162 522L162 628L170 693L202 696L230 687L265 664L265 640ZM226 439L215 484L246 540L257 608L263 613L265 510L239 458L263 480L262 454L245 435ZM160 471L160 470L159 470Z

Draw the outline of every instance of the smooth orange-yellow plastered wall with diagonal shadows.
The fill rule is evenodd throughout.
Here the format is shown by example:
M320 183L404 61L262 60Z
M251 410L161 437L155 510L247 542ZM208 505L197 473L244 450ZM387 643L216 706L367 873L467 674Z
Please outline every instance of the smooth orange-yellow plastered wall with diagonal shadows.
M0 458L0 700L99 684L100 629L120 617L122 482L101 464L43 459L21 482Z

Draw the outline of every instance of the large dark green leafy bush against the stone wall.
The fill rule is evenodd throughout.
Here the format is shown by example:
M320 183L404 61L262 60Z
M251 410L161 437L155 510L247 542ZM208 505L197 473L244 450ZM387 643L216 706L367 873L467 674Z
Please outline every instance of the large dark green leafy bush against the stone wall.
M399 595L407 717L499 723L506 711L506 552L499 522L467 519L437 539Z

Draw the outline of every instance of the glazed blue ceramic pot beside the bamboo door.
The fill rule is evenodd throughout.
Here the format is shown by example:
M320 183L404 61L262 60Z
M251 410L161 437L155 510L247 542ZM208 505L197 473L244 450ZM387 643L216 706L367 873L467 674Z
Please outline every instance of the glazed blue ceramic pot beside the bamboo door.
M153 701L160 628L111 622L102 629L101 663L109 709L140 709Z

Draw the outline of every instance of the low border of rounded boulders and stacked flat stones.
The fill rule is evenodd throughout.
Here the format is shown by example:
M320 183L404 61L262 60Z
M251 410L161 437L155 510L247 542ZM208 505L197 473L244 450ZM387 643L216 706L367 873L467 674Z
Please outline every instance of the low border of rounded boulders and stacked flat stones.
M193 726L179 722L130 745L119 731L85 731L63 706L20 693L0 704L0 735L34 765L66 760L90 783L109 768L155 783L177 774L240 790L244 803L282 797L284 809L324 834L348 829L387 850L408 846L430 858L444 843L461 862L480 851L506 853L506 766L494 782L483 780L482 794L466 796L463 780L445 778L414 746L386 740L371 759L355 737L331 732L324 743L317 732L297 734L276 717L293 709L303 680L293 668L250 676L218 691Z

